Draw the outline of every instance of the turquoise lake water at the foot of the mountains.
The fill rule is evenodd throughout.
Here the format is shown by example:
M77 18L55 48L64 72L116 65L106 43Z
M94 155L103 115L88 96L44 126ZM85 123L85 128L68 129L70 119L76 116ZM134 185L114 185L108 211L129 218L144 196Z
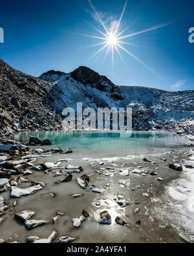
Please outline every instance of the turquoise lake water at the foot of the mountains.
M50 139L52 147L71 147L84 156L140 154L184 143L183 138L165 132L45 131L17 134L16 139L28 143L30 136Z

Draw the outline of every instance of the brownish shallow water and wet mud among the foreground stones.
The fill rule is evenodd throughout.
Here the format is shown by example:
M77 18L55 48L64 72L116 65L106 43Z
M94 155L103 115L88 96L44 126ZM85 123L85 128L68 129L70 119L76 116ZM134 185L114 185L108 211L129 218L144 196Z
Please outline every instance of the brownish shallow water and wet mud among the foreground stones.
M185 242L183 239L178 237L178 234L172 231L171 229L164 229L162 227L158 227L158 219L155 219L155 215L153 213L149 214L149 204L150 201L156 198L157 191L161 191L161 186L164 187L167 183L170 183L172 180L177 179L179 174L175 171L167 169L166 163L169 162L168 159L171 159L171 154L165 155L167 161L160 161L160 157L153 155L153 160L156 161L155 164L146 163L143 161L142 156L137 156L133 159L116 159L115 161L105 161L103 160L103 165L100 165L99 159L98 162L83 159L72 159L67 163L62 162L59 165L58 170L51 170L49 174L45 174L44 172L34 172L34 174L27 176L29 180L32 178L36 181L41 181L47 183L43 190L36 192L33 195L29 195L27 197L22 197L18 199L19 204L16 207L12 207L12 211L10 209L8 212L11 213L11 216L8 216L10 219L10 224L8 224L8 220L5 220L0 226L0 230L5 225L5 228L8 232L11 228L14 232L19 230L18 223L14 219L14 213L19 213L19 211L24 210L33 210L36 211L36 218L43 218L51 220L54 215L56 215L56 211L63 212L65 209L65 216L59 216L61 220L59 220L58 224L47 224L43 227L37 227L33 231L27 231L25 227L21 227L23 230L23 234L21 235L21 231L19 232L19 236L17 239L18 242L25 242L27 239L27 235L39 235L44 238L45 234L52 233L52 231L58 231L58 237L60 235L71 235L73 237L77 237L76 242ZM176 155L177 152L174 152ZM65 158L71 158L73 154L69 154L65 156ZM61 159L61 155L55 154L55 159ZM62 156L63 157L63 156ZM139 159L138 159L139 158ZM45 159L38 158L34 165L39 165L39 163L48 161L53 162L53 156L48 156ZM135 163L138 161L138 163ZM93 164L92 164L93 162ZM84 172L81 174L73 174L73 180L69 183L61 183L59 185L55 185L54 182L61 179L61 176L54 178L54 173L64 168L67 165L74 165L83 167ZM133 174L132 169L136 169L142 165L142 169L151 171L156 170L158 172L158 176L163 177L164 181L156 181L155 177L153 178L149 174ZM106 169L106 167L111 167L115 169L115 171L111 171ZM158 170L160 168L160 170ZM101 170L104 169L104 170ZM119 169L128 169L129 175L124 176L121 175ZM98 172L101 170L101 173ZM65 174L67 170L62 169L62 172ZM64 176L63 174L63 176ZM91 176L91 182L89 187L86 190L81 189L78 186L76 181L81 175L87 174ZM109 176L106 176L109 174ZM125 174L125 172L124 172ZM144 176L143 176L144 175ZM62 177L63 178L63 177ZM119 183L120 181L125 181L125 185ZM109 187L107 187L107 183L109 183ZM128 183L128 184L127 184ZM124 184L124 182L123 182ZM93 187L94 185L94 187ZM22 183L19 187L28 187L27 183ZM102 194L96 194L91 192L91 189L98 188L102 189ZM64 191L65 189L65 191ZM49 197L43 199L42 196L44 194L54 193L56 197ZM70 198L70 194L80 193L85 194L80 198ZM126 200L129 200L129 205L126 207L120 207L115 203L114 197L116 194L123 194ZM143 194L149 193L149 197L146 198ZM6 194L6 196L5 196ZM10 198L10 192L3 192L1 196L5 196L5 199L11 204L14 202L13 199ZM136 205L135 201L139 200L140 204ZM43 201L45 201L43 203ZM96 202L100 202L100 206L96 206ZM107 202L105 202L107 201ZM46 203L47 202L47 203ZM61 207L61 202L63 207ZM107 204L108 203L108 204ZM42 209L43 205L44 209ZM75 205L76 204L76 205ZM37 206L39 205L39 206ZM50 206L49 206L50 205ZM52 205L52 206L51 206ZM66 206L65 206L66 205ZM68 207L67 207L68 205ZM148 205L148 206L147 206ZM55 209L52 209L52 208ZM147 208L148 207L148 208ZM138 213L135 214L135 209L139 208ZM47 209L47 211L46 211ZM89 213L89 218L81 224L79 229L72 229L72 218L76 218L81 214L81 211L85 209ZM107 210L112 215L112 224L111 226L106 226L102 224L98 224L100 218L100 211ZM41 212L41 213L40 213ZM114 218L116 215L124 216L127 219L127 225L120 226L114 222ZM7 217L6 217L7 218ZM140 225L135 224L137 220L140 220ZM154 220L154 221L153 221ZM65 225L64 225L65 221ZM6 224L7 223L7 224ZM158 223L158 224L156 224ZM8 226L6 226L8 225ZM64 229L66 233L64 232ZM50 232L49 232L50 231ZM96 240L91 240L91 237L94 237L94 231ZM121 236L118 237L121 232ZM83 234L84 233L84 234ZM155 233L155 238L153 239L153 233ZM109 239L107 240L107 235L109 235ZM167 235L167 239L165 238ZM12 237L11 233L7 233L5 238L0 237L1 239L5 239L8 241ZM162 239L162 240L161 240Z

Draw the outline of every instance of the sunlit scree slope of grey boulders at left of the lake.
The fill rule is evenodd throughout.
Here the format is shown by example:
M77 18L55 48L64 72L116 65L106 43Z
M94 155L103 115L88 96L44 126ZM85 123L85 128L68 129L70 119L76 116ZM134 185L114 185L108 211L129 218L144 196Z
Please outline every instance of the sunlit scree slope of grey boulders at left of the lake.
M45 96L49 82L21 73L0 59L0 137L29 130L61 128L61 117L52 113Z

